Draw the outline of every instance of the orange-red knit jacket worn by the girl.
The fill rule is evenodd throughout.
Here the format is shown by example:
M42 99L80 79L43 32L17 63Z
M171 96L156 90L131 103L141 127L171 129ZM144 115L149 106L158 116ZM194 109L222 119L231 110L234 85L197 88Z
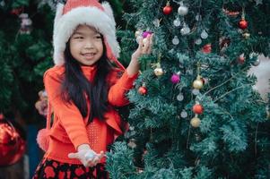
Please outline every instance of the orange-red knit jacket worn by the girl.
M96 72L96 67L82 66L83 74L89 81L92 81ZM48 93L48 101L54 111L54 123L49 133L49 146L45 158L51 158L60 162L70 164L81 164L78 159L68 158L71 152L81 144L89 144L91 149L100 153L107 151L107 146L114 141L114 135L122 134L120 129L121 119L118 112L110 109L106 114L106 121L102 122L94 118L92 123L86 125L88 115L83 118L74 103L67 104L61 99L61 82L65 72L64 66L55 66L48 69L44 74L45 90ZM115 107L122 107L128 104L126 91L133 88L133 83L137 74L128 76L118 69L113 69L109 73L108 100L109 104ZM90 109L90 101L87 103ZM104 162L105 158L101 160Z

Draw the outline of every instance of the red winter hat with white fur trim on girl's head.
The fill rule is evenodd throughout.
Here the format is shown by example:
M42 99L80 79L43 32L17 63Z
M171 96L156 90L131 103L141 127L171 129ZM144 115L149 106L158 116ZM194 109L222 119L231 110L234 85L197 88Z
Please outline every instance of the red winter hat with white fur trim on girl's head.
M65 63L65 44L80 24L89 25L104 37L109 60L118 67L125 67L118 62L120 47L116 37L116 21L109 3L100 4L97 0L67 0L66 4L57 4L54 23L53 45L54 63Z

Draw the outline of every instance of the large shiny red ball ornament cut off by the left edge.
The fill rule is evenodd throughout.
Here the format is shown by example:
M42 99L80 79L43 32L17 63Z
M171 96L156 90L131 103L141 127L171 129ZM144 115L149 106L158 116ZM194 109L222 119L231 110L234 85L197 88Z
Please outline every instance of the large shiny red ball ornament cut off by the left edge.
M0 118L0 166L9 166L19 161L26 149L26 142L13 124Z

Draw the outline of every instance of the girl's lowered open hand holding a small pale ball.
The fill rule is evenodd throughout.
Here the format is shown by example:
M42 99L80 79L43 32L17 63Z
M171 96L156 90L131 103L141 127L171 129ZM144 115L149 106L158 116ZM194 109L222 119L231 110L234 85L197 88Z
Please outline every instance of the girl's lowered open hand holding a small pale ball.
M90 148L87 144L82 144L78 147L78 152L69 153L68 158L77 158L79 159L83 166L96 166L100 159L104 157L104 152L101 151L100 154L97 154L94 150Z

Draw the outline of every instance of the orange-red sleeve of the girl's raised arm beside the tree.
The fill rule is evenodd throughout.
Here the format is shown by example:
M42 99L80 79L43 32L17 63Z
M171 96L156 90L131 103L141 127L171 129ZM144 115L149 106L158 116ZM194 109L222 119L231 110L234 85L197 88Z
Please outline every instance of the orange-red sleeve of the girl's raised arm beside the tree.
M115 82L109 88L108 100L109 104L115 107L123 107L129 103L126 98L126 92L133 88L133 83L138 76L138 72L129 76L125 71L123 75L118 78L119 72L114 72Z

